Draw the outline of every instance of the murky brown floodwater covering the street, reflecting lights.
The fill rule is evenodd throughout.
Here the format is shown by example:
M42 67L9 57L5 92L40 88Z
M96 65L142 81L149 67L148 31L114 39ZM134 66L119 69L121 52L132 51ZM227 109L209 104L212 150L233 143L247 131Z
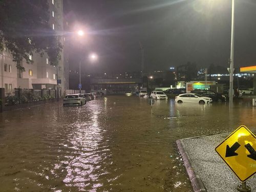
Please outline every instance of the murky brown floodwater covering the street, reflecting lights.
M4 112L0 191L193 191L176 140L250 129L255 115L245 100L151 108L136 96Z

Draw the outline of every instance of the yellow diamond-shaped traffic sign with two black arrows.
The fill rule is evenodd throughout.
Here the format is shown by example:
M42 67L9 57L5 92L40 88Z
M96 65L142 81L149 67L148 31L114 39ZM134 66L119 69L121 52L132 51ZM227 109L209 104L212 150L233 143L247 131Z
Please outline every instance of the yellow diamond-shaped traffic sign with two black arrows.
M229 166L233 173L245 182L256 173L256 137L244 125L238 127L215 151Z

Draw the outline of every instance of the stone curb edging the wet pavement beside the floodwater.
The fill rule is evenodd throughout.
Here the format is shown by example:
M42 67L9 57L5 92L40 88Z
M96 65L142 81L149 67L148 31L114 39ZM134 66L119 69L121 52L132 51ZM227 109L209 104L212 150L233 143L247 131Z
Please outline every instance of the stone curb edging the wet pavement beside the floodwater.
M195 192L207 191L201 178L195 172L194 167L191 165L191 160L188 154L185 152L183 142L181 139L176 141L180 155L182 156L184 166L186 168L189 180Z

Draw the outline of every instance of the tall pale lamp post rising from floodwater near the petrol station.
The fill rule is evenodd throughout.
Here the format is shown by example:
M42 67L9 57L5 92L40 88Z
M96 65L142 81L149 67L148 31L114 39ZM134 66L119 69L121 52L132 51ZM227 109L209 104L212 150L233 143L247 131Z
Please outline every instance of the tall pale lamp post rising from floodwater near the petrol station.
M233 105L233 71L234 71L234 0L232 0L231 16L231 45L230 45L230 68L229 68L229 108Z

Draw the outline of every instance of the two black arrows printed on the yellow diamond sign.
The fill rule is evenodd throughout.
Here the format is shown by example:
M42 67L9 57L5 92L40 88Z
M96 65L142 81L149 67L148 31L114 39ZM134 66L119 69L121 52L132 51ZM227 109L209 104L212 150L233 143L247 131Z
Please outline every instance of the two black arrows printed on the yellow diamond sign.
M234 143L231 147L229 147L227 145L227 147L226 147L226 156L225 157L237 156L238 153L236 153L236 151L238 150L238 148L240 146L241 145L238 142ZM244 146L248 150L248 152L250 153L250 155L247 155L247 157L256 161L256 151L254 150L254 148L250 145L250 143L247 143Z

